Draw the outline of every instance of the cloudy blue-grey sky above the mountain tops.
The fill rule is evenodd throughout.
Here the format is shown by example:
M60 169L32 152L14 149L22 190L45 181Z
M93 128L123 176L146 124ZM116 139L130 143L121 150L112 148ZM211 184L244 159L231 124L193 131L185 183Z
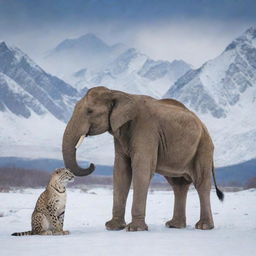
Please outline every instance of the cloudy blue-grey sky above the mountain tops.
M35 60L92 32L155 59L198 67L256 25L256 0L0 0L0 40Z

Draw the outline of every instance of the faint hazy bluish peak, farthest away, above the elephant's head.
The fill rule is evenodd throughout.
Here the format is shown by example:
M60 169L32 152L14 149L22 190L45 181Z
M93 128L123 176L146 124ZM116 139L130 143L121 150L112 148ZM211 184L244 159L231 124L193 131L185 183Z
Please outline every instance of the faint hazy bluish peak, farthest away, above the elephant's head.
M51 73L67 80L71 74L84 68L100 69L114 60L127 47L108 45L92 33L65 39L49 51L42 65Z

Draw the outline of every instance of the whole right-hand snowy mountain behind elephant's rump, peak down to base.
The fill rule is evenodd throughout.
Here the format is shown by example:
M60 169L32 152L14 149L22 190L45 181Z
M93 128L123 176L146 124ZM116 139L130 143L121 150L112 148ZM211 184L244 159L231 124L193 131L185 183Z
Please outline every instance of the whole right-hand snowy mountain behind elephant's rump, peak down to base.
M220 163L255 158L256 28L249 28L218 57L179 78L164 97L182 101L205 120Z

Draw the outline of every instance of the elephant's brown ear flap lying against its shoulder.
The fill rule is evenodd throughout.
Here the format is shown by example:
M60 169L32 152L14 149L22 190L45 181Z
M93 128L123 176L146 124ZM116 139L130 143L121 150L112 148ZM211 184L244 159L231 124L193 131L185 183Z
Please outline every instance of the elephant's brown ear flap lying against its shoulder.
M110 125L113 132L116 132L122 125L136 116L136 106L131 95L112 90L113 108L110 114Z

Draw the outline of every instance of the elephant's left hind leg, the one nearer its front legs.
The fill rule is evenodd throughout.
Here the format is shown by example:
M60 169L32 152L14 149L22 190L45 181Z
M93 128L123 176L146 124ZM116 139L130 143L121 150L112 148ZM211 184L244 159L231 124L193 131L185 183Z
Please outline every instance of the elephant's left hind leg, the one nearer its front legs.
M168 228L186 227L186 199L191 182L183 177L165 177L172 186L174 192L173 217L165 223Z

